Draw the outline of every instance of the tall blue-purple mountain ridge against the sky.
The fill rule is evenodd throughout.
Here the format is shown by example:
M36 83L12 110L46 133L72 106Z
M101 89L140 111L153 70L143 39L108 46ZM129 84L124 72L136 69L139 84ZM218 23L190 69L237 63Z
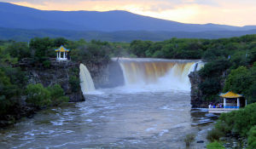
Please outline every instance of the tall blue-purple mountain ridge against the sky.
M216 24L183 24L119 10L108 12L45 11L12 3L0 3L0 17L0 27L32 30L208 32L256 29L256 26L238 27Z

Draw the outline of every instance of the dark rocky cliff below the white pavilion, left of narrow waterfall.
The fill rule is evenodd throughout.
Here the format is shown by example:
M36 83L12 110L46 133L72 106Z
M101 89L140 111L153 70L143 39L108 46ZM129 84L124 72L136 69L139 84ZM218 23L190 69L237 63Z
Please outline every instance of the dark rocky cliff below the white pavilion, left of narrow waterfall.
M28 83L42 83L44 87L60 84L70 102L84 101L81 89L73 92L69 83L71 76L79 78L79 62L50 59L47 66L33 66L31 60L24 59L19 65L27 72Z

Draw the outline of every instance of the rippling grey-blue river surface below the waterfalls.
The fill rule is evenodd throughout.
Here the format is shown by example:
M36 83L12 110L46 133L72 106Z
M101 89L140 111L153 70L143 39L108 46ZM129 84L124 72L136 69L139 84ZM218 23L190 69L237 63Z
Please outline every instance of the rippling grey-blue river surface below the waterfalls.
M184 136L201 140L215 117L191 110L188 92L102 92L0 130L0 148L184 148Z

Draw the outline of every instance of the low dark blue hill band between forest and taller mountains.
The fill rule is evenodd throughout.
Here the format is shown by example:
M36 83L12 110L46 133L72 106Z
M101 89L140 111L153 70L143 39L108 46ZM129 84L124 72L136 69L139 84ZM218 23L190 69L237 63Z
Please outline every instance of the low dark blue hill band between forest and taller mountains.
M149 32L149 31L119 31L119 32L92 32L92 31L65 31L55 29L26 30L0 28L0 39L27 42L32 37L65 37L70 40L84 38L87 41L99 39L109 42L131 42L135 39L163 41L172 37L178 38L221 38L240 37L247 34L256 34L256 30L250 31L211 31L211 32Z

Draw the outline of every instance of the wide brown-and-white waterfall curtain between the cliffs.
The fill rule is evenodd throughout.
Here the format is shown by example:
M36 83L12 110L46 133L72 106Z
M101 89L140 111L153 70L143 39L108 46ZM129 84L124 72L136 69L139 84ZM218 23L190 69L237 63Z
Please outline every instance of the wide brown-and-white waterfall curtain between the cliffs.
M119 60L119 64L124 73L125 86L177 90L189 90L189 73L203 66L195 60L160 59L123 59Z

